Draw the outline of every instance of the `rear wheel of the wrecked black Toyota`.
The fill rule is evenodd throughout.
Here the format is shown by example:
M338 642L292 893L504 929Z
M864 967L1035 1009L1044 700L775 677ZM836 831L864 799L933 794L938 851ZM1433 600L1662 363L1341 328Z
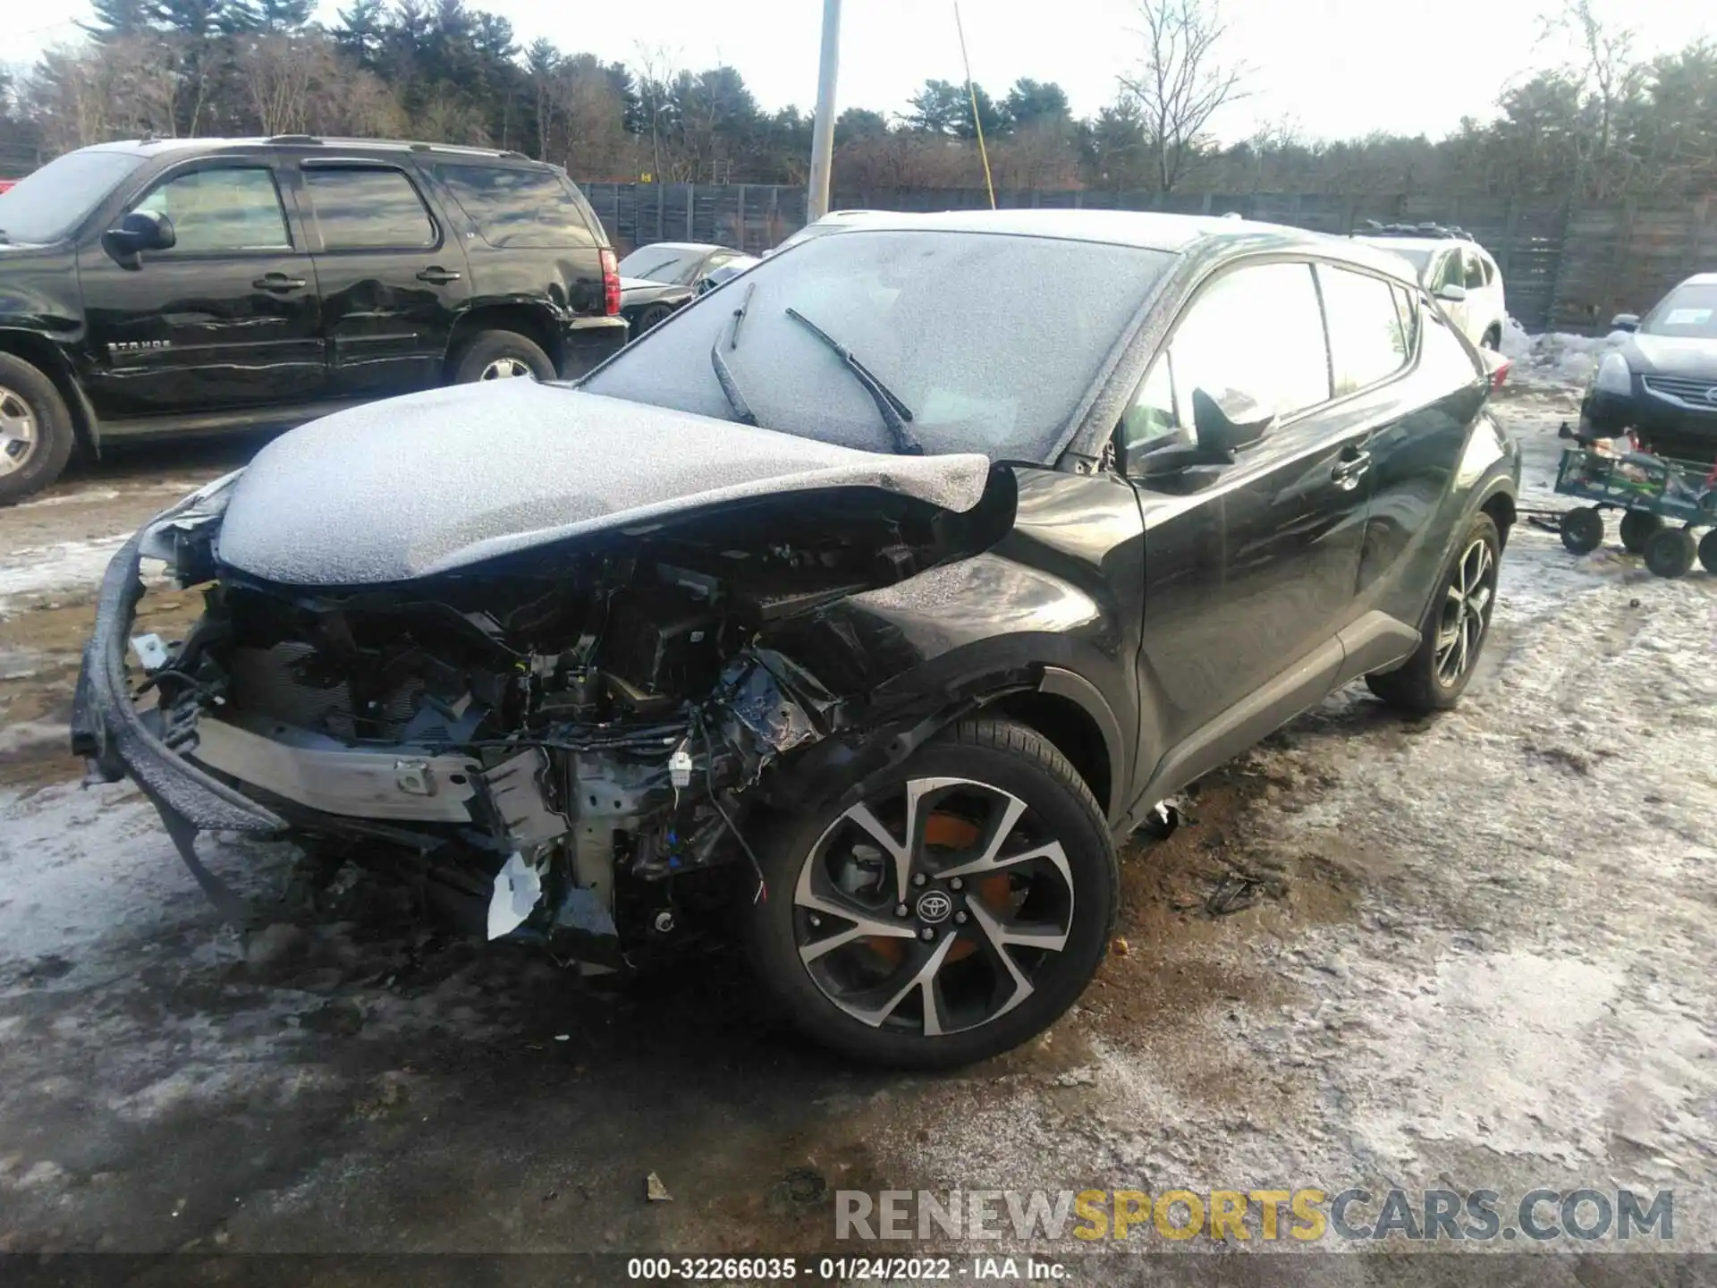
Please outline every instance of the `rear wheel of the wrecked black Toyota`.
M1478 515L1437 582L1418 651L1392 671L1365 677L1377 697L1413 714L1447 711L1461 699L1490 632L1501 555L1496 522Z

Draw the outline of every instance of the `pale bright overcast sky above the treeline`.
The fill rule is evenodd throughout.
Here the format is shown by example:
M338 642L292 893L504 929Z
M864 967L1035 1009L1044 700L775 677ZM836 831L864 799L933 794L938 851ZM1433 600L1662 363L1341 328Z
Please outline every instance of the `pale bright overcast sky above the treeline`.
M1647 53L1717 33L1703 0L1597 0L1623 17ZM1226 53L1252 65L1250 96L1212 122L1224 137L1296 122L1307 136L1453 131L1485 117L1497 94L1552 57L1537 45L1538 15L1556 0L1224 0ZM568 52L635 62L661 48L687 69L738 67L766 108L809 108L817 86L817 0L477 0L503 14L522 45L548 36ZM337 3L319 17L333 22ZM951 0L846 0L840 106L901 112L927 77L960 77ZM9 24L0 57L29 60L77 38L88 0L0 0ZM972 76L1001 91L1020 76L1058 81L1077 115L1114 98L1116 76L1138 57L1132 0L963 0ZM26 17L27 15L27 17Z

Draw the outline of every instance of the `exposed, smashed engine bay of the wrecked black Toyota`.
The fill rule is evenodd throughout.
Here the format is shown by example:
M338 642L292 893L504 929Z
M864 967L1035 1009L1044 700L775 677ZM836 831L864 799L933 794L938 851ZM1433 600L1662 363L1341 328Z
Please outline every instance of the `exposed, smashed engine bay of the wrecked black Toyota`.
M489 938L625 962L701 898L694 874L762 895L749 833L792 795L783 766L829 744L881 768L939 718L855 692L795 623L994 541L996 479L967 513L800 493L352 591L247 577L216 524L182 524L170 562L206 613L148 666L160 735Z

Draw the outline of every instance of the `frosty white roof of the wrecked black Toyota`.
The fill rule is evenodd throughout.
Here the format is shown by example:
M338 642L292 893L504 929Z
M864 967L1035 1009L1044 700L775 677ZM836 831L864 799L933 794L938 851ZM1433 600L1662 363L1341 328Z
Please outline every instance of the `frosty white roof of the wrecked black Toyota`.
M912 215L877 210L865 211L864 220L855 220L853 228L845 235L917 228L1107 242L1169 254L1207 249L1217 242L1235 242L1259 252L1305 251L1331 259L1346 259L1403 282L1418 282L1406 259L1370 244L1308 228L1293 228L1284 223L1217 215L1164 215L1133 210L950 210L934 215Z

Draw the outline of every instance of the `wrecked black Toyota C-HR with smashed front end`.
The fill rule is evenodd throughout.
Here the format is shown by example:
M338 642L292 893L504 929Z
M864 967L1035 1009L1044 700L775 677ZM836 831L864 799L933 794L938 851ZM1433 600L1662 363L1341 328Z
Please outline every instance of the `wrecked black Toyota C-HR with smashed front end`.
M603 965L725 929L944 1066L1101 963L1116 838L1338 685L1451 706L1518 459L1411 268L1235 220L876 216L577 388L340 412L113 560L74 745ZM203 587L127 632L139 562Z

